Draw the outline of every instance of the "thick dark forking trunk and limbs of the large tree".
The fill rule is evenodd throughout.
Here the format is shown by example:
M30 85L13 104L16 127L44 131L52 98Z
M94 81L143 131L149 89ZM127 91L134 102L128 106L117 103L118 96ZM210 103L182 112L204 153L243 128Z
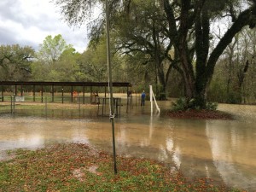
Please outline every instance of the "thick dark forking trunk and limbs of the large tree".
M188 101L194 99L191 107L205 108L207 86L212 79L218 58L237 32L244 26L255 26L256 3L247 1L245 4L229 0L164 0L164 7L169 20L169 37L177 49L183 68L185 96ZM241 7L246 9L241 10ZM229 15L233 23L210 52L210 25L212 19L218 15ZM191 48L188 37L191 29L195 31L195 65L189 57Z

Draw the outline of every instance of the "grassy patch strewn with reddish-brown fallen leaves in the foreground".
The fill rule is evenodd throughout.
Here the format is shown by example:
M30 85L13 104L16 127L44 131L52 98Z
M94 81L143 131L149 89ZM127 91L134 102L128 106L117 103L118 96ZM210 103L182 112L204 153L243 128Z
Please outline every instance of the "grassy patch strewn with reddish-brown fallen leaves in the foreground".
M210 179L193 183L154 160L113 157L79 143L57 144L36 151L10 151L0 162L0 191L240 191L216 186Z

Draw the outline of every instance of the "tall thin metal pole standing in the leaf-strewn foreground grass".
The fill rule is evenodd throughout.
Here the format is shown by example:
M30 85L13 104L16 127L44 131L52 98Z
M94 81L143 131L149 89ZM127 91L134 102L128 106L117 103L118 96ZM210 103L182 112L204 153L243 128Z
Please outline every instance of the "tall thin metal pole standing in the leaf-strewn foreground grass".
M113 171L114 171L114 174L116 174L117 166L116 166L115 137L114 137L113 84L112 84L112 69L111 69L111 61L110 61L108 0L106 0L106 26L107 26L107 52L108 52L108 87L110 92L110 120L112 123L112 138L113 138Z

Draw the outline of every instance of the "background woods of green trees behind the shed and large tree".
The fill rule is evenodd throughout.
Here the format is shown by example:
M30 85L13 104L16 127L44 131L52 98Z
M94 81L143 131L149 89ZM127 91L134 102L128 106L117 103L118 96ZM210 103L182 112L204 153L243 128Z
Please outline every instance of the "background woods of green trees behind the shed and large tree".
M61 1L56 2L60 3ZM167 30L170 30L170 28L164 27L170 25L170 23L167 24L168 20L165 20L166 17L168 18L168 12L166 11L165 15L160 12L160 4L146 2L150 1L143 3L142 1L134 1L133 5L130 4L129 10L119 11L111 15L112 20L114 20L110 35L113 81L130 82L135 92L142 90L148 92L148 85L152 84L159 99L185 96L187 89L181 75L182 68L178 67L178 63L181 62L181 55L177 55L178 50L175 44L170 43L172 37L171 40L166 38ZM172 3L173 10L179 11L177 8L183 8L175 2ZM232 16L235 15L234 13L239 10L241 5L239 4L241 1L230 4L229 1L224 2L226 4L222 8L212 9L212 5L204 5L207 8L202 6L201 9L202 13L204 13L204 9L207 9L212 14L211 25L208 22L209 51L214 50L216 44L224 37L224 31L231 28L234 22ZM140 6L135 6L138 4ZM165 6L165 9L170 11L167 5L171 8L171 3L166 3ZM219 16L225 15L224 10L227 8L229 8L229 13L232 13L230 8L233 8L234 15L228 18ZM218 9L219 12L215 9ZM127 11L132 15L130 18ZM177 18L179 18L178 15ZM237 18L236 20L238 20ZM127 20L129 20L129 25ZM102 25L103 21L102 18L97 18L95 23L98 26L91 27L90 44L83 53L73 49L72 44L67 44L61 34L55 37L47 36L38 50L28 46L22 47L19 44L1 45L0 80L108 81L107 43L105 29L102 28L104 26ZM200 32L196 33L197 21L195 21L194 26L191 26L190 31L188 31L189 35L186 36L191 54L191 66L196 69L200 59L194 46L196 39L200 37ZM201 20L200 22L203 23L204 21ZM73 20L73 22L79 21ZM202 29L204 29L203 27L201 26ZM214 73L208 75L211 77L210 83L207 85L208 101L255 102L256 31L252 28L244 24L241 31L236 32L234 38L231 38L231 43L218 57ZM209 53L207 53L207 57L209 59Z

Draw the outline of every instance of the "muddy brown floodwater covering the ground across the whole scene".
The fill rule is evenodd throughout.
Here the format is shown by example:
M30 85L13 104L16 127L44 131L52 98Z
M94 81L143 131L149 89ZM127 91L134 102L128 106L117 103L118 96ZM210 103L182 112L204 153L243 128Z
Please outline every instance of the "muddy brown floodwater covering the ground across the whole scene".
M146 103L148 104L148 103ZM160 102L164 111L171 102ZM116 152L165 162L185 177L256 191L256 106L219 104L235 120L170 119L133 106L114 119ZM161 113L162 114L162 113ZM41 148L54 143L89 143L112 152L106 117L82 119L0 115L0 160L6 150Z

